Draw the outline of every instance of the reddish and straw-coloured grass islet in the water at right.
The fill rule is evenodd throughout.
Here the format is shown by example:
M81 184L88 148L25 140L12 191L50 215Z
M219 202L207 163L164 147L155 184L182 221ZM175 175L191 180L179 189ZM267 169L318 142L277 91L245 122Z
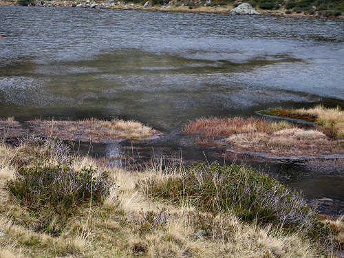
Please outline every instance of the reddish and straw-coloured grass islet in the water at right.
M226 138L230 149L271 153L272 155L327 155L344 153L343 140L327 137L318 129L302 129L289 122L263 118L200 118L184 127L186 133L199 133L202 142Z

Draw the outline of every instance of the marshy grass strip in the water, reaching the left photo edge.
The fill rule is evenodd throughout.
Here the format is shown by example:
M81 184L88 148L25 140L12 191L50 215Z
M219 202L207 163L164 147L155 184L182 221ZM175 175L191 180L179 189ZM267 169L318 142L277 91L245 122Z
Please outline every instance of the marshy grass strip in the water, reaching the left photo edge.
M118 142L118 140L145 140L161 134L141 122L114 119L111 121L91 118L87 120L31 120L25 125L4 118L0 120L0 133L6 138L34 134L45 138L79 140L82 142Z

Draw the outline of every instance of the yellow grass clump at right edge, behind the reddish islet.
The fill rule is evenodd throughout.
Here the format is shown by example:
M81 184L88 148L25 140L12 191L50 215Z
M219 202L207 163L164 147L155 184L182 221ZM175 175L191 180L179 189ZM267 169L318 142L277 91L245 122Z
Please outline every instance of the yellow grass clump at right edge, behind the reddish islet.
M340 107L329 109L318 105L311 109L296 109L300 114L312 114L317 116L316 122L323 127L334 131L336 136L344 137L344 111Z

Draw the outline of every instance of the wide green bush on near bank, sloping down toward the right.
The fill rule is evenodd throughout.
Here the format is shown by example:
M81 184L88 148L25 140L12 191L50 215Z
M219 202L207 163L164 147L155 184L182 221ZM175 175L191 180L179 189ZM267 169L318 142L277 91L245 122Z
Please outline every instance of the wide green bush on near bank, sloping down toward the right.
M299 193L244 165L195 164L165 180L140 180L138 186L151 197L213 214L232 211L250 222L257 219L304 230L316 224L316 213Z

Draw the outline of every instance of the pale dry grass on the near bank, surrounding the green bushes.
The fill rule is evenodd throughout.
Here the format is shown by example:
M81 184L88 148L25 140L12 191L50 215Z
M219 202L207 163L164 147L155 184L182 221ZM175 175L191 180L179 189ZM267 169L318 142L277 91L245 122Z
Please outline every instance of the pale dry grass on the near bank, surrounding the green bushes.
M302 230L289 232L259 221L248 223L231 211L215 214L200 211L191 203L171 204L169 200L149 197L137 186L138 182L147 180L168 182L182 172L179 167L162 169L162 164L156 164L140 173L95 167L97 162L92 158L63 158L69 153L58 152L61 146L54 142L34 145L33 154L24 148L28 144L31 143L23 142L18 147L0 144L0 231L5 234L0 237L1 258L330 257L321 244ZM39 146L50 151L39 151ZM52 155L56 152L59 154ZM32 162L22 162L25 153L36 158ZM32 169L37 170L39 166L56 168L56 164L68 166L75 173L92 166L98 171L92 175L92 182L107 171L114 187L102 198L82 199L85 202L73 206L75 211L70 213L58 233L52 233L50 228L56 225L56 219L52 218L50 224L43 224L43 227L38 226L42 225L40 215L52 207L43 205L40 211L35 211L30 196L25 202L19 202L19 197L10 191L6 182L16 180L20 168L32 175ZM63 179L63 182L66 181ZM44 182L41 184L44 186ZM50 198L60 201L53 193Z

